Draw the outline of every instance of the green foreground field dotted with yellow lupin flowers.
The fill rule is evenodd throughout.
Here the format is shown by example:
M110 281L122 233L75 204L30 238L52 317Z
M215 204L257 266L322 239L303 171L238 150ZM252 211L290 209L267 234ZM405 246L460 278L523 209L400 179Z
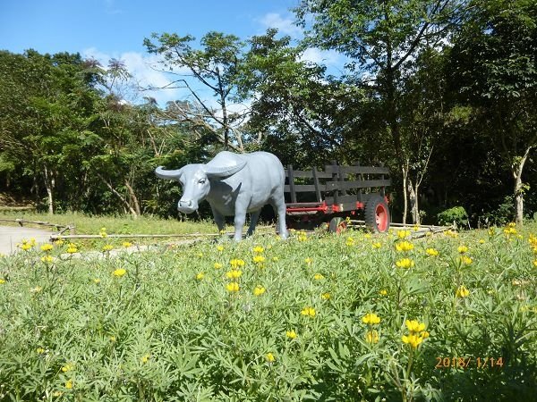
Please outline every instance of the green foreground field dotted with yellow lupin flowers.
M535 400L534 236L28 247L0 258L0 400Z

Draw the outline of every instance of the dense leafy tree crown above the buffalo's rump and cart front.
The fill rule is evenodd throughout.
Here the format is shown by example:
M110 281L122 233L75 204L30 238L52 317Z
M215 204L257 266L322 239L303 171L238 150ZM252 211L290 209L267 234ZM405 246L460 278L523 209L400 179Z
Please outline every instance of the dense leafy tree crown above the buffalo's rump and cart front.
M324 77L325 68L302 60L303 49L276 29L249 40L237 80L251 101L247 128L285 163L326 162L339 148L335 122L340 85Z

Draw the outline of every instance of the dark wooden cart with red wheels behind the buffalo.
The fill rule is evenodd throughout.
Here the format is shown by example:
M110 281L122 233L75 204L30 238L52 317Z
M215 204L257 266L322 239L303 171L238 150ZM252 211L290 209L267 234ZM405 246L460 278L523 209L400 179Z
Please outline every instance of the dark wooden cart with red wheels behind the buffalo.
M351 217L362 212L366 227L388 231L390 214L386 188L391 185L384 166L343 166L336 162L324 171L286 169L286 214L290 227L328 223L328 230L345 230Z

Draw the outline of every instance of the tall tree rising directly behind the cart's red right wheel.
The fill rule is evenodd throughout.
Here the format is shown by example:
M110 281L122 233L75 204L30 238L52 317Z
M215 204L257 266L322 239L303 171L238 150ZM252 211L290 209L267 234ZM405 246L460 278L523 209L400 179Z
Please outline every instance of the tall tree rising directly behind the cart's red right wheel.
M423 48L441 46L462 17L464 0L303 0L295 9L305 42L345 54L357 82L374 89L396 167L407 176L409 147L401 130L402 90ZM403 180L403 194L406 195Z

